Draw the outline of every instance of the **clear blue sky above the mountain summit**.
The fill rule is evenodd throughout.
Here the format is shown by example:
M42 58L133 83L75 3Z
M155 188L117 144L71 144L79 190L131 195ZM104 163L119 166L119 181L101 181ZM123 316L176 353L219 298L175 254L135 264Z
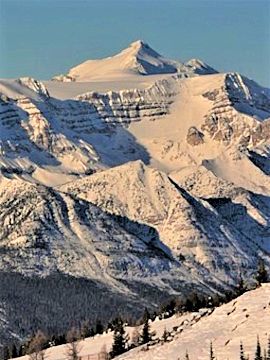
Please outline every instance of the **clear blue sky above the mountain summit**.
M48 79L137 39L270 86L270 0L0 0L0 77Z

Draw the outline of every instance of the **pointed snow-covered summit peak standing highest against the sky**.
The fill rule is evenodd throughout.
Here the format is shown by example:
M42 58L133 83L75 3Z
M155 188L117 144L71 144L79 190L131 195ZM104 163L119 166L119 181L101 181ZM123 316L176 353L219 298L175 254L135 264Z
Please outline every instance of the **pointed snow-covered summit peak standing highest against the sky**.
M217 70L199 59L186 63L171 60L159 54L143 40L132 42L116 55L98 60L87 60L69 70L66 75L53 78L57 81L91 81L120 79L132 76L175 74L180 77L216 74Z

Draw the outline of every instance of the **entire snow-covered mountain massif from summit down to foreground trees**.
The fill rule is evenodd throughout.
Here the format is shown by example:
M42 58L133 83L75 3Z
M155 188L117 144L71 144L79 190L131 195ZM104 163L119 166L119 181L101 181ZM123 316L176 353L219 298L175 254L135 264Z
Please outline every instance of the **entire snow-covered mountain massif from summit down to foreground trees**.
M94 66L108 87L117 71L139 85L93 91L83 81ZM199 60L178 65L143 42L74 69L76 81L57 83L59 98L35 79L0 80L4 311L16 306L8 289L21 278L48 289L57 277L59 308L69 282L80 294L90 282L127 314L192 289L222 293L240 276L252 283L258 259L270 264L269 89ZM80 321L90 316L84 300ZM52 331L38 314L34 327ZM20 321L24 332L11 321L5 337L32 331Z

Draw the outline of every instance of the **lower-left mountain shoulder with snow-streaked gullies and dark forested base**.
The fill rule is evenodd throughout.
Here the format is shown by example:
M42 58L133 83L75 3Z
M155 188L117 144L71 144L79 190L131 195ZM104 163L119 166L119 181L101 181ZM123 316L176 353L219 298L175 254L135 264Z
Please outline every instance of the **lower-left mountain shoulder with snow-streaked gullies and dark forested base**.
M189 269L155 229L43 185L2 177L0 226L2 344L37 328L56 334L107 323L118 308L138 317L183 283L183 296L207 292L196 277L186 281Z

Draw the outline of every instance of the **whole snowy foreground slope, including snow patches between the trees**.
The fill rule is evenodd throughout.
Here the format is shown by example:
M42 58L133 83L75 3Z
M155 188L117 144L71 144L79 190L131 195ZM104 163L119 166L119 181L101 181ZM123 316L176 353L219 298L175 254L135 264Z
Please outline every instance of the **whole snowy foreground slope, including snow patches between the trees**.
M243 342L245 354L252 359L255 353L257 336L262 348L267 348L270 335L270 285L249 291L239 298L216 308L212 313L200 310L182 316L173 316L151 323L151 330L156 332L156 338L161 338L166 329L171 333L171 339L166 343L158 343L143 351L146 346L140 346L117 357L117 359L132 360L177 360L184 359L188 350L190 359L209 359L210 342L213 343L215 356L220 360L239 359L239 345ZM132 336L134 328L126 327ZM113 334L109 332L87 338L80 342L80 355L98 354L102 347L110 350ZM66 345L56 346L46 351L48 360L60 360L66 357ZM27 359L27 356L19 359Z

